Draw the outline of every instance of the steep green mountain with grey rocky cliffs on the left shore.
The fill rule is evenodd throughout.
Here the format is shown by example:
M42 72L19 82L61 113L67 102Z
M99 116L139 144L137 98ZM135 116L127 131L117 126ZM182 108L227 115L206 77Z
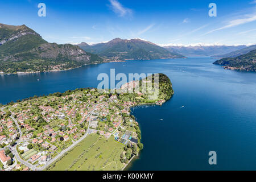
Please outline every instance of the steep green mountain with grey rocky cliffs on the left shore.
M71 44L48 43L31 28L0 23L0 72L43 72L102 63L97 55Z

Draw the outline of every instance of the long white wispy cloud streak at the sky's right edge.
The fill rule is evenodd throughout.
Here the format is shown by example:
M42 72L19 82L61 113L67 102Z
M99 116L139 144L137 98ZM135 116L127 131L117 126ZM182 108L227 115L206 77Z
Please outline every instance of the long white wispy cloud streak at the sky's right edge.
M207 35L207 34L210 34L210 33L212 33L212 32L219 31L219 30L224 30L224 29L226 29L226 28L236 27L236 26L239 26L239 25L241 25L241 24L254 22L254 21L256 20L256 15L246 15L246 16L247 16L246 18L230 20L230 21L228 22L228 24L226 24L225 26L220 27L220 28L213 29L213 30L211 30L211 31L208 31L208 32L206 32L206 33L203 34L203 35Z

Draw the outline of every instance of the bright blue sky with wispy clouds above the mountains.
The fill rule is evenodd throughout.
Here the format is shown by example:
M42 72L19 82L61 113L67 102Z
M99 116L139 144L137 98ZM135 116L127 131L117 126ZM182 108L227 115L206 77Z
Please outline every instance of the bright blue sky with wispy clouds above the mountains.
M46 17L38 4L46 4ZM216 3L217 17L210 17ZM141 38L160 45L256 44L256 0L83 0L0 2L0 22L26 24L48 42Z

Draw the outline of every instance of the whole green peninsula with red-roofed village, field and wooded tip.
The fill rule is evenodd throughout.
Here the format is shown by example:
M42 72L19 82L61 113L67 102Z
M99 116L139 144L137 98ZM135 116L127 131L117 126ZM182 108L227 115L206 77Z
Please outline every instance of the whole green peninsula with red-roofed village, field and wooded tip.
M130 107L162 105L174 94L166 75L160 73L158 82L155 78L152 75L152 88L157 84L159 94L154 100L143 93L142 84L148 83L144 78L129 82L140 88L134 93L81 88L2 106L1 168L122 170L143 148L141 130Z

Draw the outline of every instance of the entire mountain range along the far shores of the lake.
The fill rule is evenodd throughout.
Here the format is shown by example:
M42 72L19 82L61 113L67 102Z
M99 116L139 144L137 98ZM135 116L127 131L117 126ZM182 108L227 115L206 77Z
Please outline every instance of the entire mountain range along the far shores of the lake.
M226 69L255 71L256 45L253 46L167 46L141 39L115 38L89 45L48 43L37 32L22 26L0 23L0 73L59 71L85 64L110 61L175 59L185 56L226 57L214 64ZM185 55L185 56L183 56Z

